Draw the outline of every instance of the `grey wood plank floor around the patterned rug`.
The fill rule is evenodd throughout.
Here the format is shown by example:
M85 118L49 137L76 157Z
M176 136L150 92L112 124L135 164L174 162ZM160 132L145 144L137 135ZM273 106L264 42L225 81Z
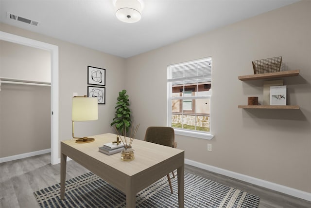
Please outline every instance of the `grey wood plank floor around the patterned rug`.
M0 164L0 208L39 208L33 192L60 182L60 164L51 165L50 154ZM311 208L311 202L185 165L185 171L260 197L259 208ZM66 179L88 172L67 162Z

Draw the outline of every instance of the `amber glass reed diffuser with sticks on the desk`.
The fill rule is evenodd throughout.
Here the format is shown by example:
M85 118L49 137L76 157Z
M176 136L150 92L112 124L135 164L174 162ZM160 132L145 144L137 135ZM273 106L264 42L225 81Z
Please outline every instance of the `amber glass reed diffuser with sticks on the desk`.
M126 131L125 131L125 127L124 127L124 138L122 139L118 129L116 128L115 126L115 130L117 131L118 135L119 135L119 138L121 139L121 142L123 143L124 145L124 149L123 151L121 151L121 160L124 160L124 161L128 161L128 160L134 160L134 150L132 149L132 143L134 141L134 138L136 136L136 133L138 131L138 127L139 127L139 124L136 126L134 132L133 132L133 128L131 129L131 134L130 134L130 137L126 137Z

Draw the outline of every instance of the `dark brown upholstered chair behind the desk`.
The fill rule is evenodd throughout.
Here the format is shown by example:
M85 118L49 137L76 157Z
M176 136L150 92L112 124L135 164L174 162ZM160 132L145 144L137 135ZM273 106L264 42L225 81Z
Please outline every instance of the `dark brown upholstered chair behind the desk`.
M176 148L177 143L175 142L175 132L172 127L162 127L162 126L151 126L148 127L145 134L145 141L152 142L160 145L165 145L169 147ZM173 178L175 178L174 172ZM173 193L172 183L170 179L170 174L167 174L169 180L171 193Z

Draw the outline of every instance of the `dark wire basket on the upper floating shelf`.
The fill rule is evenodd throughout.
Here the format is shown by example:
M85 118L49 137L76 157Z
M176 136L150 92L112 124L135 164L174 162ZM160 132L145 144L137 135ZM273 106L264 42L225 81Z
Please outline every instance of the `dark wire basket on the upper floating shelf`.
M282 57L266 58L252 61L254 74L265 74L279 72L282 63Z

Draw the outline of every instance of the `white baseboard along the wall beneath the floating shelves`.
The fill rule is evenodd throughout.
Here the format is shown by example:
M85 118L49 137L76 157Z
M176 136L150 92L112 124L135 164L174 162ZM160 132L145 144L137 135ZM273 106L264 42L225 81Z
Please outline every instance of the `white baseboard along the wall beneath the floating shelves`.
M194 166L194 167L197 167L197 168L200 168L200 169L212 171L212 172L215 172L215 173L219 173L219 174L222 174L222 175L225 175L225 176L228 176L228 177L231 177L231 178L235 178L235 179L238 179L238 180L241 180L241 181L245 181L245 182L248 182L248 183L251 183L251 184L255 184L255 185L258 185L260 187L264 187L264 188L267 188L267 189L272 189L272 190L275 190L275 191L278 191L278 192L281 192L281 193L285 193L285 194L288 194L288 195L291 195L291 196L294 196L294 197L297 197L297 198L300 198L300 199L311 201L311 193L306 192L306 191L302 191L302 190L298 190L298 189L293 189L293 188L286 187L286 186L283 186L283 185L280 185L280 184L276 184L276 183L272 183L272 182L269 182L269 181L261 180L259 178L254 178L254 177L251 177L251 176L248 176L248 175L243 175L241 173L233 172L233 171L230 171L230 170L225 170L225 169L217 168L217 167L214 167L214 166L210 166L210 165L207 165L207 164L204 164L204 163L199 163L199 162L196 162L196 161L193 161L193 160L189 160L189 159L185 159L185 164L191 165L191 166Z

